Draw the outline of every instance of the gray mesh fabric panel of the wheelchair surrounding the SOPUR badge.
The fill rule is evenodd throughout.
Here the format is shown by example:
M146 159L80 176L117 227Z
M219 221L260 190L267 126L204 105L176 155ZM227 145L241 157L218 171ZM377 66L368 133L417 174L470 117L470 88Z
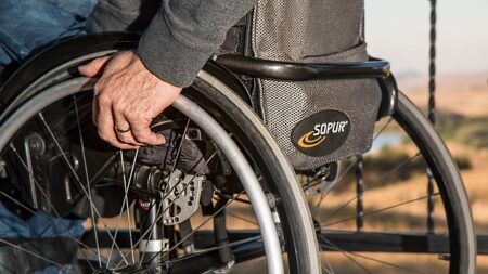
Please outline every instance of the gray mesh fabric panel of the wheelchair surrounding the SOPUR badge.
M367 61L362 0L259 0L253 16L252 48L259 58L300 63ZM287 82L258 80L262 119L295 169L311 169L371 147L381 91L374 79ZM325 110L343 112L350 133L342 147L311 157L292 143L293 128Z

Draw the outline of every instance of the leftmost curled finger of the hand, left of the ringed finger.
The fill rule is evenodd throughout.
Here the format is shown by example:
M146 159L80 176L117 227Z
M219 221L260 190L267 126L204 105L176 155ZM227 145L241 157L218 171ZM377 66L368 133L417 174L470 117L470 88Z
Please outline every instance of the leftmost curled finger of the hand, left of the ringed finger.
M137 149L138 146L136 145L125 144L118 141L115 133L114 118L110 102L99 96L98 103L99 112L97 115L97 125L99 128L99 136L120 149Z

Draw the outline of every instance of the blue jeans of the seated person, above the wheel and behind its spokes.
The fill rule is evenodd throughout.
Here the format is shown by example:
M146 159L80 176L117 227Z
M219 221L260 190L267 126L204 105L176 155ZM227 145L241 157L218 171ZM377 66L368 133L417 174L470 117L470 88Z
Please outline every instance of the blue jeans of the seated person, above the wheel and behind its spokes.
M0 65L20 65L46 47L84 35L86 17L95 3L97 0L1 0ZM1 197L0 238L73 237L84 232L82 220L42 212L22 219L4 203L8 201ZM61 272L49 268L37 273Z

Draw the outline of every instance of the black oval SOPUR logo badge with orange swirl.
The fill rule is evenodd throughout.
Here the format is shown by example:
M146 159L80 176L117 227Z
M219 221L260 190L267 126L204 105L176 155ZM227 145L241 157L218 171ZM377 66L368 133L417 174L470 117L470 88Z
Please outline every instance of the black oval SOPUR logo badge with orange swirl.
M349 123L349 118L344 113L324 110L298 122L292 131L292 142L306 155L325 156L347 140Z

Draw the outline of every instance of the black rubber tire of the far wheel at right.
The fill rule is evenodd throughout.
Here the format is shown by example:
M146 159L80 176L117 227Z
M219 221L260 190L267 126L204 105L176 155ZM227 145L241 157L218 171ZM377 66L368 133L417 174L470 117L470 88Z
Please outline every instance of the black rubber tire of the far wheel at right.
M476 237L470 201L458 166L432 123L401 92L393 117L418 145L437 182L449 226L449 273L474 274Z

